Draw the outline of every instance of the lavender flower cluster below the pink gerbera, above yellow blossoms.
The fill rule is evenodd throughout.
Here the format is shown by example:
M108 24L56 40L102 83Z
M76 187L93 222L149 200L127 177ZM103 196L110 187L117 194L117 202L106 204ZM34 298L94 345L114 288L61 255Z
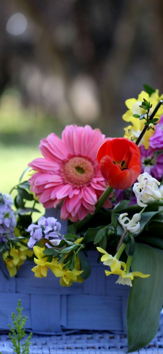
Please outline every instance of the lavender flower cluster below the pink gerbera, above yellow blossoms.
M50 239L50 241L56 240L56 244L58 244L58 241L62 238L59 235L60 228L61 224L57 221L56 218L45 218L44 216L41 216L37 222L37 225L31 224L27 229L27 231L30 233L28 247L33 248L35 243L43 237L48 240ZM55 244L55 242L52 243Z

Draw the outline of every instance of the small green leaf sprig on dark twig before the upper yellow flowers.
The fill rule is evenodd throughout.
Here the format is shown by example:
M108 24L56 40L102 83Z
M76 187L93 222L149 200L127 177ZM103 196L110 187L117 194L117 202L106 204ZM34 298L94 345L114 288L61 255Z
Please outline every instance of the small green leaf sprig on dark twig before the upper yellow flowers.
M134 118L139 118L139 120L145 119L146 122L144 123L148 128L147 130L154 130L155 131L155 125L157 124L158 118L152 118L150 119L151 115L149 114L150 109L152 108L152 104L148 102L145 98L143 98L143 102L139 106L140 108L145 109L147 112L143 114L133 114Z

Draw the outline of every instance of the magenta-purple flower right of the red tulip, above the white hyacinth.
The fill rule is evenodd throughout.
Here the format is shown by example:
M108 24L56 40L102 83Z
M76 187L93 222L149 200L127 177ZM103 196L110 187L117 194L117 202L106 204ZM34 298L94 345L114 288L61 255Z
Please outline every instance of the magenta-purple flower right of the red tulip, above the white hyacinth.
M163 136L162 136L163 139ZM160 180L163 175L163 153L159 154L156 149L145 149L140 146L141 173L148 172L152 177Z

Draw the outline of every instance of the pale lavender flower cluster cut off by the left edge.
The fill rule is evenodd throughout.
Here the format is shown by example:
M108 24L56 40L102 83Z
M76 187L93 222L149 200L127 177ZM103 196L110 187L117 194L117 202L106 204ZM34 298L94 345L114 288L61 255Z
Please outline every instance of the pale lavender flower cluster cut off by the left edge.
M5 242L6 237L14 237L14 228L16 227L16 218L11 209L13 199L10 194L0 193L0 242Z

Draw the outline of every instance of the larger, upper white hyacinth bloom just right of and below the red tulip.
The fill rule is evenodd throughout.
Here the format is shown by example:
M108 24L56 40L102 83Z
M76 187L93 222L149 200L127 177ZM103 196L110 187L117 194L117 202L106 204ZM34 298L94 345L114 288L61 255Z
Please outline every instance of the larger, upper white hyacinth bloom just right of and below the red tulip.
M148 172L139 175L138 182L134 183L133 186L138 205L145 207L147 206L145 203L150 200L162 199L161 191L158 188L159 185L160 182L150 176Z

